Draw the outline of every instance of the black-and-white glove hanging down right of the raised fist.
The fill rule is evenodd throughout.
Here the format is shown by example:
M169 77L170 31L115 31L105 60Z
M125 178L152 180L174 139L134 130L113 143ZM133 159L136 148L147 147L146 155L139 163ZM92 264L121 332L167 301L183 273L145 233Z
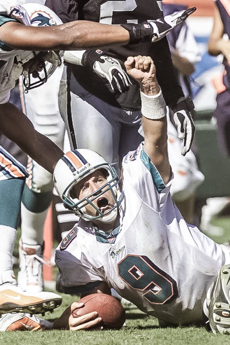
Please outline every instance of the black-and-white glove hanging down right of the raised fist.
M173 120L177 126L178 138L183 140L181 154L185 156L192 146L195 125L192 119L193 101L190 97L180 98L173 110Z

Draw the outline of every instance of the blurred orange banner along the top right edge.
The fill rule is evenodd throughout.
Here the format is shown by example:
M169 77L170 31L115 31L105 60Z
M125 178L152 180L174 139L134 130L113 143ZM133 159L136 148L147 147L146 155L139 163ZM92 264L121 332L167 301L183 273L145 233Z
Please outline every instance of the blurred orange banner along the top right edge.
M163 0L164 3L178 3L187 5L188 7L196 6L197 10L191 16L213 16L214 2L213 0Z

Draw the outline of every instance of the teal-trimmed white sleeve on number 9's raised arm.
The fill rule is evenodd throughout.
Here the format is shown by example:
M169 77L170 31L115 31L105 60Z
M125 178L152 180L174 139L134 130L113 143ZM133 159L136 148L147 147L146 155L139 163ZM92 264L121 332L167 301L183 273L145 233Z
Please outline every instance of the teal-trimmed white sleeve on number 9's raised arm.
M129 152L122 162L126 204L134 203L135 195L132 195L134 190L139 202L146 203L155 211L162 211L167 198L170 197L172 178L167 185L164 184L159 171L144 150L143 144L142 142L136 151Z

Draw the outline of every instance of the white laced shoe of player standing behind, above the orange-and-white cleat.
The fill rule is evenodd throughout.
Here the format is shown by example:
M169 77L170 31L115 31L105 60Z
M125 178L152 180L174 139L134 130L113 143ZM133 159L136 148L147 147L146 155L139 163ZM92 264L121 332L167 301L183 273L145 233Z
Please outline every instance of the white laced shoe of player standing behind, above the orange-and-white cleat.
M41 245L27 245L19 240L19 272L18 285L24 291L32 294L43 291L44 282L42 276L43 248Z

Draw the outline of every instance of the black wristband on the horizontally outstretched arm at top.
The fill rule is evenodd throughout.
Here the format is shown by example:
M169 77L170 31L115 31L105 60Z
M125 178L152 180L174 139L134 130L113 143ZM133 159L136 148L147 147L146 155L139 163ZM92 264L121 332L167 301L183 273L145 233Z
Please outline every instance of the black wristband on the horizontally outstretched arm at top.
M153 30L150 24L121 24L122 28L129 31L129 43L149 42L153 36Z

